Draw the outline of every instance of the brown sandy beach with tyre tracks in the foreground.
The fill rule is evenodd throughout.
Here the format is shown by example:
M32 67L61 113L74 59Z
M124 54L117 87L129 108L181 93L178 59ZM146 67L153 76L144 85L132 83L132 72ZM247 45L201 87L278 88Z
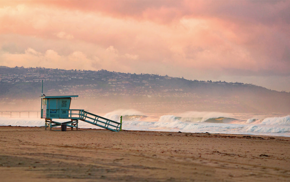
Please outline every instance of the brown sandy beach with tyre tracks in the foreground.
M0 127L0 181L290 181L290 138Z

